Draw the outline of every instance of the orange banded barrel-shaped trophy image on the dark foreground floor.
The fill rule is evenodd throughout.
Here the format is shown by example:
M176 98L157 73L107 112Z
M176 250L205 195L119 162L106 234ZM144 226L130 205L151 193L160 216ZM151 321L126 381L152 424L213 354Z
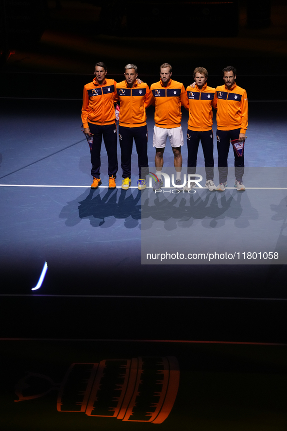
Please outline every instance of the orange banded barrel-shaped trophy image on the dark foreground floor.
M162 423L179 386L175 357L73 363L60 386L58 412Z

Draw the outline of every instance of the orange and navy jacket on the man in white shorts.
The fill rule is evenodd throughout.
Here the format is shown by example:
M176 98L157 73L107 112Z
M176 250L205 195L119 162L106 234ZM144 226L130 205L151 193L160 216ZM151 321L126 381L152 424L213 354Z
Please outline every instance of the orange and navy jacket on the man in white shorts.
M187 104L185 87L181 82L169 80L165 87L162 80L151 85L147 106L155 106L154 122L157 127L180 127L181 105Z

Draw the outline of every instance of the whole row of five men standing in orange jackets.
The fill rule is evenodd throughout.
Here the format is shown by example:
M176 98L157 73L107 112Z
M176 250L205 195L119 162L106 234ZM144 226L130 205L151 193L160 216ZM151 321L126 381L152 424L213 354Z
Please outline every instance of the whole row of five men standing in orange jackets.
M125 80L116 83L106 78L107 67L104 63L95 66L94 80L84 86L82 121L84 133L92 137L91 163L93 176L92 189L101 185L101 141L104 140L108 155L109 188L116 188L118 172L117 157L117 127L114 103L120 103L118 136L121 149L122 189L127 190L131 185L131 158L133 141L135 140L138 155L139 190L146 188L148 167L148 130L146 123L146 108L155 106L152 145L155 147L155 167L158 172L163 167L163 154L167 138L174 155L176 170L176 186L181 184L182 155L181 146L184 144L181 127L181 106L189 111L187 129L187 172L194 174L197 163L199 142L203 147L206 184L209 190L224 191L227 186L227 157L230 140L245 141L248 126L248 102L246 91L236 85L236 69L232 66L222 70L224 85L212 88L207 86L207 70L194 70L195 82L187 86L171 79L172 70L168 63L160 67L160 80L152 84L151 88L137 79L137 68L134 64L125 67ZM219 186L213 182L213 131L212 106L217 110L217 148L219 166ZM91 139L90 139L91 140ZM245 190L242 183L244 173L244 148L242 155L235 156L235 187ZM153 189L163 186L158 178ZM185 189L192 188L195 183L189 183Z

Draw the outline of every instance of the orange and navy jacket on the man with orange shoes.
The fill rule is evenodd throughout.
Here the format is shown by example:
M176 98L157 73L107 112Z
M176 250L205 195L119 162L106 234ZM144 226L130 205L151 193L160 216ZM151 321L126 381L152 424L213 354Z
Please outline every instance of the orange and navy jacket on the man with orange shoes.
M101 85L96 78L84 86L82 121L84 128L88 122L101 126L116 122L114 103L117 101L116 81L105 79Z

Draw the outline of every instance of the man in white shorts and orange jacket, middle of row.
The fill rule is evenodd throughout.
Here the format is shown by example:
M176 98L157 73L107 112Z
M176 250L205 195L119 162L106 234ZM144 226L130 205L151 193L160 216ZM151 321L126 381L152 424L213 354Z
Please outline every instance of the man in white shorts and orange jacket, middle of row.
M161 171L164 158L163 154L167 138L174 155L174 167L176 170L175 184L181 185L182 155L181 146L184 144L183 131L181 128L181 106L187 102L185 87L182 83L173 81L171 77L171 66L164 63L160 67L160 80L152 84L147 104L155 106L152 146L155 147L155 167ZM163 186L163 181L156 181L153 190Z

